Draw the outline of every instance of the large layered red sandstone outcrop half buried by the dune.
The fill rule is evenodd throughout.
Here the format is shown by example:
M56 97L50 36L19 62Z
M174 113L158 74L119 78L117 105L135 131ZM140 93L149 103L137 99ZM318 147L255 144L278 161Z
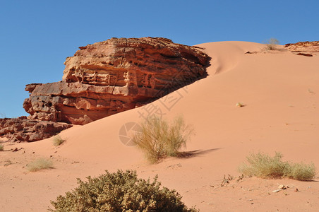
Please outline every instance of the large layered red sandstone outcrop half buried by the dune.
M87 124L155 100L207 76L199 47L165 38L112 38L80 47L65 61L63 80L30 84L30 119Z

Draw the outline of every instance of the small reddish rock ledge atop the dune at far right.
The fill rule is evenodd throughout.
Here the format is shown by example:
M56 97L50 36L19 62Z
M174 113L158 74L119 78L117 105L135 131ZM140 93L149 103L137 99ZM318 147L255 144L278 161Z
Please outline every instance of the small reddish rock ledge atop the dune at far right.
M289 43L284 45L285 48L289 49L291 52L300 52L303 56L312 56L313 52L319 52L319 41L306 41L306 42L296 42L296 43ZM308 53L308 54L307 54Z

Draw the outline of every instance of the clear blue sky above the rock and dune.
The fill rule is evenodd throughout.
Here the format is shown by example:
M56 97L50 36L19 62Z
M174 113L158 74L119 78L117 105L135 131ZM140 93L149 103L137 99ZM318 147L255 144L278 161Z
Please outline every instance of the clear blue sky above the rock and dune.
M66 57L111 37L185 45L319 40L319 1L0 1L0 117L27 115L28 83L61 81Z

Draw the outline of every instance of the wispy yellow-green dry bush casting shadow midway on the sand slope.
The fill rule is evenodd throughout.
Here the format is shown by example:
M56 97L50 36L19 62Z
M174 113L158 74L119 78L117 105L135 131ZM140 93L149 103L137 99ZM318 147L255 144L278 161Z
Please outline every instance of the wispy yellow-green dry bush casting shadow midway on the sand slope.
M133 142L151 163L165 156L179 155L179 149L186 146L186 141L193 134L193 128L186 125L183 117L176 117L168 123L157 116L150 116L140 126Z

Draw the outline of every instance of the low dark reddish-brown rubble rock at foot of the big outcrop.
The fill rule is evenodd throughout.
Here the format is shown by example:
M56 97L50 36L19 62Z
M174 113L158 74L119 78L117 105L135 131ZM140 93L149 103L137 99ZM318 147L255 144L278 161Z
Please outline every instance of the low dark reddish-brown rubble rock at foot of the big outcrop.
M8 141L39 141L58 134L71 124L47 122L19 117L0 119L0 136Z

